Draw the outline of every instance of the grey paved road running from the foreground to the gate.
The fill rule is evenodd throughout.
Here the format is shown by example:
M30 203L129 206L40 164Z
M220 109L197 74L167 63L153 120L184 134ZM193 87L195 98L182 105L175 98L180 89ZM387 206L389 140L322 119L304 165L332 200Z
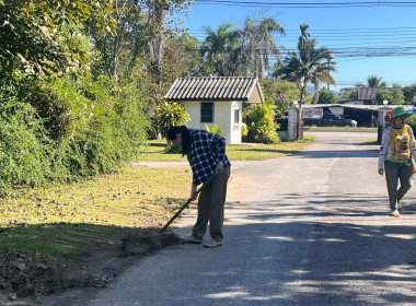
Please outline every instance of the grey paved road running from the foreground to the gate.
M416 188L389 216L378 148L361 145L375 133L314 134L300 155L235 164L223 246L164 249L85 305L416 305Z

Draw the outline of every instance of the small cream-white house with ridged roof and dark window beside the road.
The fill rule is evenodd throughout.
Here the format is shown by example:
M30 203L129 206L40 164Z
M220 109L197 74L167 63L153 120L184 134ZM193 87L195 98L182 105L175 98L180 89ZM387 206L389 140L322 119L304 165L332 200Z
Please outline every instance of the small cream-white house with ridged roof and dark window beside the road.
M180 78L164 98L184 103L188 128L222 128L228 144L241 143L243 104L264 103L258 80L242 76Z

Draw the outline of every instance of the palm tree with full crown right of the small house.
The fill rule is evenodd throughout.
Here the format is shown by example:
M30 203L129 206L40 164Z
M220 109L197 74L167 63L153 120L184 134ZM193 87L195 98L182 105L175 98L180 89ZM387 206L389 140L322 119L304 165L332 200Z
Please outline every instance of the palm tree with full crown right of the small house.
M321 82L335 84L331 72L336 71L335 62L332 61L333 55L327 48L316 48L317 40L311 39L308 33L309 25L300 25L301 36L298 40L298 52L289 52L284 59L282 66L275 72L275 76L296 82L300 87L300 107L309 83L320 89ZM314 104L317 95L314 96Z

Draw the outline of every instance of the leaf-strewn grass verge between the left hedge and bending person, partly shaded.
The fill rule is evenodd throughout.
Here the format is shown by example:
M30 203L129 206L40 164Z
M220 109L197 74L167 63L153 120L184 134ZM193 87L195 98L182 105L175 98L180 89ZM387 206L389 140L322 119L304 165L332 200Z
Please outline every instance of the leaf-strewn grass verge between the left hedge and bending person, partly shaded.
M0 251L71 258L139 227L161 227L188 196L186 168L122 173L1 200Z

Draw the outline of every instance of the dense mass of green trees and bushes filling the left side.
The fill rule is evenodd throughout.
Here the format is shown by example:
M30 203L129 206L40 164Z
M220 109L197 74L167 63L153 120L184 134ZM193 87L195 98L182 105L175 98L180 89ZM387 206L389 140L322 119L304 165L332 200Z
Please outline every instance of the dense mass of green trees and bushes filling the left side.
M184 44L170 39L163 56L153 42L174 37L170 17L187 3L0 1L1 195L137 158L146 114L187 67L172 56Z

